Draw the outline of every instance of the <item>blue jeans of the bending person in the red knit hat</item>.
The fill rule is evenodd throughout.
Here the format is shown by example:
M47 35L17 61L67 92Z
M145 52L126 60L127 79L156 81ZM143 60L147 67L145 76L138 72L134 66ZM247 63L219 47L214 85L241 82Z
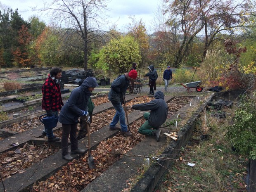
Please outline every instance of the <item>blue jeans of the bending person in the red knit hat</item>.
M125 119L125 112L124 109L120 103L114 103L111 102L113 104L114 109L116 109L116 114L112 120L112 122L110 123L109 127L114 127L116 126L116 124L118 123L118 121L120 121L120 126L121 126L121 131L128 131L127 130L127 125L126 125L126 119Z

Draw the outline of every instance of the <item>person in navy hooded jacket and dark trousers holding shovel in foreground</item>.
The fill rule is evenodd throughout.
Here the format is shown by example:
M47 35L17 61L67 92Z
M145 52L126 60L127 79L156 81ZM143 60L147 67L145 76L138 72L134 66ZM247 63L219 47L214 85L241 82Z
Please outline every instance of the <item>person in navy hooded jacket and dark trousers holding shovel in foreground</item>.
M71 154L83 154L84 149L78 148L76 139L78 118L86 116L87 122L90 122L88 113L88 100L95 87L98 87L97 80L94 77L88 77L82 85L72 90L69 100L64 104L59 113L59 122L62 123L62 158L71 161L73 157L69 155L69 135Z

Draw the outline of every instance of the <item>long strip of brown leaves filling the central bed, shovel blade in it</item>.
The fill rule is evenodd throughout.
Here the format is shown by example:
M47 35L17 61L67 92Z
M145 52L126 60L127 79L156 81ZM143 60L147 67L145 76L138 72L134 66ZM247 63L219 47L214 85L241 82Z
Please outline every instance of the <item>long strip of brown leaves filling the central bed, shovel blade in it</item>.
M117 149L128 152L141 140L145 138L137 132L143 120L138 120L130 126L133 133L132 137L124 137L120 133L108 140L100 142L97 149L92 150L91 154L95 158L96 169L90 170L88 166L88 154L81 159L73 159L61 170L47 178L45 181L35 183L32 192L79 192L92 180L101 175L106 169L119 159L119 156L113 155Z

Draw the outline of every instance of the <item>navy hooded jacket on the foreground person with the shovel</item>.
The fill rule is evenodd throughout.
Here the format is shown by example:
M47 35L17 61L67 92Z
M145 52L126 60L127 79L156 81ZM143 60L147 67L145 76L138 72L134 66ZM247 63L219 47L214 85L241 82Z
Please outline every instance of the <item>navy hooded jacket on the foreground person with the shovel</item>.
M98 86L94 77L88 77L80 87L75 88L59 113L59 122L63 124L78 123L78 118L82 114L81 110L88 111L88 99L92 95L88 87L95 88Z

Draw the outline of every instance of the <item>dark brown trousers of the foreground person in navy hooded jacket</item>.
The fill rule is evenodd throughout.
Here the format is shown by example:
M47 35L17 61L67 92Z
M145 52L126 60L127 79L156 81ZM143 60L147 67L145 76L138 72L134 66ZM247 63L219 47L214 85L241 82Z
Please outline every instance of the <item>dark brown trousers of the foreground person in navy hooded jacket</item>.
M69 135L70 135L70 149L71 151L78 148L76 140L77 123L75 124L62 124L62 155L69 154Z

